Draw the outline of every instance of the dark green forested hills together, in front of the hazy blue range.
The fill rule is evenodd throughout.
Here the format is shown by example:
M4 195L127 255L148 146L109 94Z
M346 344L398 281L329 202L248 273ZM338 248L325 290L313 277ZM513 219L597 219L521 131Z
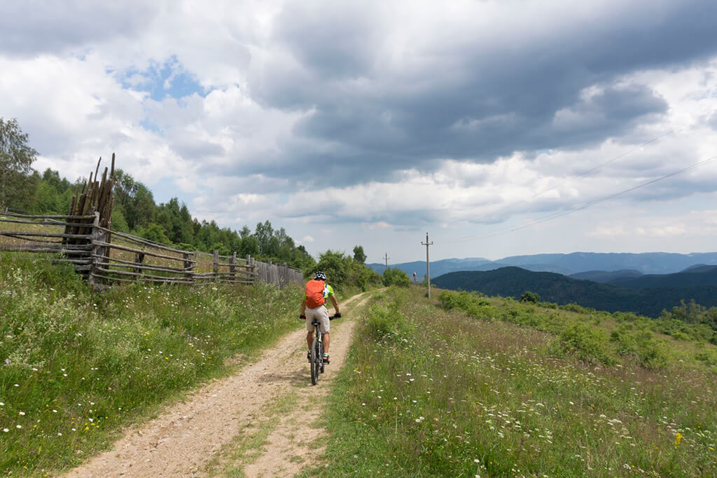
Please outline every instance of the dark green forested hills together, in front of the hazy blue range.
M658 317L663 309L669 311L680 305L680 300L694 299L702 306L717 306L717 267L700 266L662 276L619 272L622 274L612 279L621 281L619 286L513 266L493 271L451 272L432 279L432 283L443 289L480 291L516 299L531 291L540 295L542 301L576 303L610 312L632 311L647 317ZM598 273L609 276L607 272L594 271Z

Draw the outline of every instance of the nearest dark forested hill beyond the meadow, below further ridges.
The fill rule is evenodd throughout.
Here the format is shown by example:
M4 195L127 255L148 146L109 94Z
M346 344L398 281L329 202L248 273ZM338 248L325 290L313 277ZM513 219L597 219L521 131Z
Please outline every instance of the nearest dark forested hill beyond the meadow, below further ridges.
M658 317L663 309L679 306L680 301L702 306L717 306L717 286L660 287L627 289L612 284L580 281L558 273L532 272L518 267L494 271L462 271L432 279L443 289L480 291L489 296L512 296L516 299L531 291L541 301L556 304L576 303L593 309L630 311L647 317Z

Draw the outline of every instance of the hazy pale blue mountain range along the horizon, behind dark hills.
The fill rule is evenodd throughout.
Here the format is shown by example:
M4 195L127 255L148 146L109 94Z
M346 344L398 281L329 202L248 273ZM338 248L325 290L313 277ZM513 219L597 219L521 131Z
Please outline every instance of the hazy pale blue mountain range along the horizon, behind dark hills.
M635 271L642 274L668 274L684 271L695 265L717 266L717 253L571 253L511 256L497 261L485 258L443 259L431 261L431 277L455 271L492 271L505 266L517 266L528 271L556 272L569 276L596 271ZM371 263L369 267L383 273L384 264ZM390 264L389 267L415 272L419 278L426 274L425 261ZM612 272L611 272L612 273ZM630 273L617 274L617 276ZM617 277L615 276L615 277ZM591 278L590 280L596 280Z

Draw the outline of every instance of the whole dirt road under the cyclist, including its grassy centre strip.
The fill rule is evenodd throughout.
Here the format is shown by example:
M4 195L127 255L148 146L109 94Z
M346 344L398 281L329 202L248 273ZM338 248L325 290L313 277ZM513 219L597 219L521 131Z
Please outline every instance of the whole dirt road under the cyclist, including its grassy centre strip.
M343 301L343 315L361 306ZM306 332L292 332L260 360L191 393L161 416L126 431L113 449L65 477L290 477L305 466L318 410L346 358L354 322L331 322L331 365L310 385ZM310 446L311 445L311 446ZM310 446L310 448L309 448Z

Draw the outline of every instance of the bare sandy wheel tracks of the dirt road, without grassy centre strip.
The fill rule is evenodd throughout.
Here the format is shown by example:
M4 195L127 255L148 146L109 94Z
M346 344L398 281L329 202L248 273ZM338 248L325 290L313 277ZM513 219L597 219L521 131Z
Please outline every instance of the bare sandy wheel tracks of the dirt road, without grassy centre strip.
M351 304L364 294L343 301L341 309L358 308L365 300L356 306ZM115 442L113 449L70 470L65 477L203 476L206 464L222 446L242 434L257 418L266 418L264 408L267 403L272 403L277 397L297 393L300 398L298 407L311 397L319 400L318 397L326 396L327 385L343 365L351 344L354 322L341 322L340 325L332 322L332 332L336 330L337 333L331 335L331 364L321 375L318 385L310 385L305 359L306 331L302 327L265 350L257 362L190 393L184 402L176 403L151 421L131 426ZM312 407L315 410L318 408ZM282 442L278 439L283 433L288 440L290 434L285 433L285 425L295 421L294 413L282 416L282 423L267 439L265 448L271 449L272 454L264 453L247 465L247 476L275 476L271 470L277 469L277 466L282 467L279 474L285 476L295 473L291 471L293 466L296 471L300 469L300 464L291 461L292 456L303 456L305 453L299 441L311 441L307 437L310 438L311 434L318 436L319 432L308 426L315 417L307 411L298 420L301 431L292 431L293 436L300 440Z

